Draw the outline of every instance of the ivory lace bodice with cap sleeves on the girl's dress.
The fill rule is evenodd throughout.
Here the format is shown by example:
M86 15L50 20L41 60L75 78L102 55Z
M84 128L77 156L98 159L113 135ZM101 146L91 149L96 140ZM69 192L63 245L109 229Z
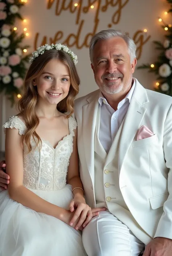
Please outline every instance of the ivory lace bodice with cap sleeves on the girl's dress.
M77 122L73 117L69 117L69 135L66 135L54 147L41 138L42 148L35 148L32 139L32 151L28 153L28 148L24 145L23 149L23 185L29 189L54 191L60 190L66 185L67 167L73 151L73 136ZM16 128L19 134L25 134L26 126L17 116L12 116L3 125L6 128ZM15 149L14 149L15 150Z

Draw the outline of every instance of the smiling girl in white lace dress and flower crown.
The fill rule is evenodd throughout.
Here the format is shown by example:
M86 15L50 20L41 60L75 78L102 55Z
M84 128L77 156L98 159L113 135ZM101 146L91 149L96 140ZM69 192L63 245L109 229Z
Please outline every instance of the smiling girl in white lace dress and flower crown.
M85 203L78 171L77 57L45 45L31 62L20 114L3 126L10 183L0 193L0 255L83 256L78 229L97 212Z

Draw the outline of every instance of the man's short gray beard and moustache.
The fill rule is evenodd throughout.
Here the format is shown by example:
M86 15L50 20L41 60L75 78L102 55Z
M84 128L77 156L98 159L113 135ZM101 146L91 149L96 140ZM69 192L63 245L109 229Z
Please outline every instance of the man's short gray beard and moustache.
M108 78L108 77L120 77L120 78L123 78L122 75L119 76L116 75L116 74L110 74L109 76L102 76L102 78ZM108 83L108 85L106 83L103 83L101 86L99 86L99 88L101 89L102 92L104 93L107 93L107 94L118 94L120 92L123 91L126 91L128 89L128 87L131 85L132 83L132 73L130 73L130 78L128 79L128 82L127 82L127 86L126 88L124 88L124 82L121 81L120 85L118 86L115 86L115 82L111 82L111 83Z

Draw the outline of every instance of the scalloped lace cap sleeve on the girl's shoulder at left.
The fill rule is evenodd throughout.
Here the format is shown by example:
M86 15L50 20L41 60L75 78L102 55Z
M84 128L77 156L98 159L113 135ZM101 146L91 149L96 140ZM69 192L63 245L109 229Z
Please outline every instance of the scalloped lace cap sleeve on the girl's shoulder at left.
M6 132L7 128L18 129L20 135L24 135L26 131L25 124L21 121L19 117L17 117L17 115L16 116L13 115L12 117L9 117L8 121L4 123L3 125L4 133Z

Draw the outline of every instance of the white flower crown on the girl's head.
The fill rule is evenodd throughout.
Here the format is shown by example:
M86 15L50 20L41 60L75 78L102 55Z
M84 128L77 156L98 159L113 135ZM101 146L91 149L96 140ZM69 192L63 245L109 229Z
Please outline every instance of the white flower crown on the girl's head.
M45 53L45 51L52 50L52 49L64 50L64 52L69 54L69 56L72 58L74 64L75 65L77 64L78 62L77 55L75 55L67 46L63 44L52 44L52 45L45 44L38 47L37 50L32 53L32 57L30 57L29 62L32 63L40 54L43 54Z

